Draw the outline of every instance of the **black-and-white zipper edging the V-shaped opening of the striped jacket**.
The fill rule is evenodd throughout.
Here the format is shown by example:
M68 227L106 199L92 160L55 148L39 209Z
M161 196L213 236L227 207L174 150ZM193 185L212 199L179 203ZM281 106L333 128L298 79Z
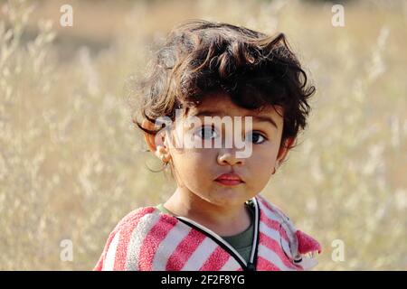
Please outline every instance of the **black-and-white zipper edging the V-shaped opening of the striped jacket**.
M176 217L186 225L200 231L204 235L209 238L212 238L214 242L216 242L219 246L221 246L226 252L228 252L234 259L239 263L239 265L243 268L244 271L256 271L256 255L257 249L259 246L259 205L257 203L256 197L253 197L251 201L254 204L254 237L253 237L253 244L251 246L251 257L249 262L239 254L238 251L234 247L232 247L228 242L226 242L221 236L213 232L210 228L206 228L203 225L195 222L192 219L188 219L185 217Z

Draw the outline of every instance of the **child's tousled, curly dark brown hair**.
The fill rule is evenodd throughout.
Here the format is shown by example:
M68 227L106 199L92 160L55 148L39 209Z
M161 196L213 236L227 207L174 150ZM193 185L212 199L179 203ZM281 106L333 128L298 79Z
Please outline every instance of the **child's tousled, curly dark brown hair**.
M169 33L152 69L137 86L138 112L152 123L158 117L175 120L175 109L198 106L205 95L219 91L239 107L282 107L281 144L307 125L308 98L315 87L283 33L269 36L228 23L190 20ZM148 130L136 117L133 122L151 135L162 129Z

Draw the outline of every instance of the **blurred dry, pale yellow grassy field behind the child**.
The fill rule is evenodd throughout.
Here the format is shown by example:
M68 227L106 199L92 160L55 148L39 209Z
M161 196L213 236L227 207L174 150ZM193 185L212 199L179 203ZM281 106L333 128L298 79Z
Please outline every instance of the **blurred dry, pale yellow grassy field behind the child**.
M0 1L0 269L89 270L119 219L175 189L146 168L125 82L187 18L286 33L310 71L308 130L262 193L321 241L317 269L407 269L405 2L345 2L345 27L321 1L70 1L73 27L62 4Z

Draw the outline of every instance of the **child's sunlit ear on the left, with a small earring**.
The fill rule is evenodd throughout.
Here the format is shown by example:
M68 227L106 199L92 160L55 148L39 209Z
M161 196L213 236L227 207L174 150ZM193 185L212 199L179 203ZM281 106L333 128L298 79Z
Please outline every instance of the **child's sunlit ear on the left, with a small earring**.
M151 131L156 131L157 129L157 127L147 119L143 120L141 126ZM166 162L169 156L169 152L165 144L165 133L161 131L156 135L152 135L144 132L144 139L146 140L148 149L152 153L156 154L156 157L161 159L163 162Z

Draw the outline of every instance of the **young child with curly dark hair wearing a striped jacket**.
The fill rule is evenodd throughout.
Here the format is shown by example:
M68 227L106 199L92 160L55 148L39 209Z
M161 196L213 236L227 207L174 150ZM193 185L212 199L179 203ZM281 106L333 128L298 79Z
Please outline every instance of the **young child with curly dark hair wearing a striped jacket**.
M189 21L169 34L141 89L135 123L177 188L164 204L121 219L94 270L315 266L317 241L260 195L305 128L315 91L284 34ZM231 130L235 141L244 135L248 154L223 144Z

